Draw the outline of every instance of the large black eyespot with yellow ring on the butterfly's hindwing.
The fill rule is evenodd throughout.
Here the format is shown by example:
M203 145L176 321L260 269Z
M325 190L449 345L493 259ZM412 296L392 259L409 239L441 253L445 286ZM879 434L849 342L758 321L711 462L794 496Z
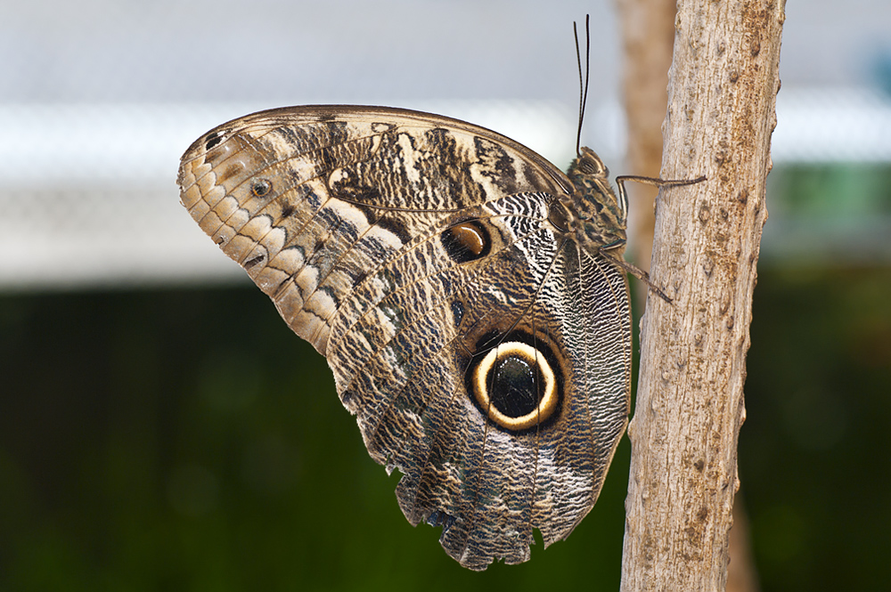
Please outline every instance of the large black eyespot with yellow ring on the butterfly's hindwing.
M547 346L506 341L470 367L468 390L495 426L511 432L540 426L560 409L560 369Z

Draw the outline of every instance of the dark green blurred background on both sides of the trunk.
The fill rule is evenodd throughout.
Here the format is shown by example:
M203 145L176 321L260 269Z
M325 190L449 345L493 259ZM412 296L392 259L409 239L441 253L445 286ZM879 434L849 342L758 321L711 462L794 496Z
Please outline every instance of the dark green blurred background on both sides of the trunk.
M885 580L889 295L887 267L759 273L740 476L764 590ZM617 589L626 439L567 541L478 574L405 521L255 288L4 296L0 336L4 589Z

